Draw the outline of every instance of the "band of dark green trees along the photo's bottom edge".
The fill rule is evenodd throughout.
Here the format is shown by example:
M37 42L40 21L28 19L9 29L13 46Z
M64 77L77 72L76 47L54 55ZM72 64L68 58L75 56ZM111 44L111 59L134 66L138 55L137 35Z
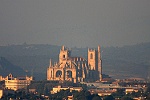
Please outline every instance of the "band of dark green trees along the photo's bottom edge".
M61 90L58 93L43 95L42 93L29 93L26 90L19 90L14 93L4 94L1 98L2 100L11 99L27 99L27 100L65 100L68 96L73 96L73 100L133 100L133 98L144 98L145 100L150 100L150 85L148 85L146 91L133 92L125 94L123 89L119 89L116 93L112 95L100 97L98 94L91 94L88 90L72 91L70 90Z

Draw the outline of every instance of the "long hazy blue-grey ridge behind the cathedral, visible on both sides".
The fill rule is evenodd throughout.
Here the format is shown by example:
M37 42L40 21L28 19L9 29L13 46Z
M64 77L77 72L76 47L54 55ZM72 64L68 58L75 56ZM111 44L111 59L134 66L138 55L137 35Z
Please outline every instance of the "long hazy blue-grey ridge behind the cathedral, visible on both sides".
M46 79L49 59L58 61L60 46L23 44L0 46L0 56L27 70L36 79ZM95 47L96 48L96 47ZM71 48L72 56L87 58L88 48ZM123 47L102 47L103 73L114 78L150 76L150 43Z

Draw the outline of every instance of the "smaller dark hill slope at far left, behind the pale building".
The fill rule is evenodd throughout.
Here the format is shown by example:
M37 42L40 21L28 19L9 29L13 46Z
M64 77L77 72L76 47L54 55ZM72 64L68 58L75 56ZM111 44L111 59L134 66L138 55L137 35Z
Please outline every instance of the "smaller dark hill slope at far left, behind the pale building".
M26 75L26 72L22 68L13 65L4 57L0 57L0 75L7 76L10 73L13 74L13 76Z

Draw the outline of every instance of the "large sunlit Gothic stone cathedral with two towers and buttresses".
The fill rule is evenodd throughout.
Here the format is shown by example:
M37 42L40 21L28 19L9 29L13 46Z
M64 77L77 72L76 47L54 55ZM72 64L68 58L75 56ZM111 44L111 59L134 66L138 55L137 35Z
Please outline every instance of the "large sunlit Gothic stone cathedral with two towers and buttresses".
M71 50L62 46L59 61L52 64L50 59L47 68L47 80L94 82L102 80L102 60L100 46L88 49L87 60L82 57L72 57Z

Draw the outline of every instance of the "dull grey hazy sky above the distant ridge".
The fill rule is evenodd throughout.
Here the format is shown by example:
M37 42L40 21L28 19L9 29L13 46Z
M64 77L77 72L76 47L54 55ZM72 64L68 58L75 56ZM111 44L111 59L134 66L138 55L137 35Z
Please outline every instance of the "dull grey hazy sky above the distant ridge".
M150 42L150 0L0 0L0 45Z

